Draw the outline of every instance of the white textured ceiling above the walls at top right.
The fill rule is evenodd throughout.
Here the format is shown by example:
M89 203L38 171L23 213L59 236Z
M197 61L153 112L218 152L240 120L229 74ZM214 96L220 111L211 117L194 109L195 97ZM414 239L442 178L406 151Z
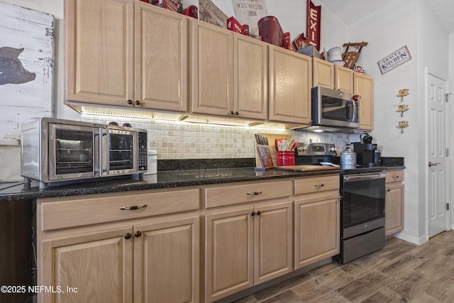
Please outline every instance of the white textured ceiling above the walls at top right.
M392 4L394 0L319 0L348 26L382 6ZM448 33L454 32L454 1L453 0L426 0L433 8ZM413 1L409 1L413 3Z

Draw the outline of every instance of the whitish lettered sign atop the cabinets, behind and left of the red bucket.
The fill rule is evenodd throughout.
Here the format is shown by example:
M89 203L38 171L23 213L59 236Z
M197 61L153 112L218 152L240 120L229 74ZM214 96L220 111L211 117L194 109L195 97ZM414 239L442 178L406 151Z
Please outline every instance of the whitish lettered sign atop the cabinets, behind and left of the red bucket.
M258 21L267 16L263 0L232 0L235 17L241 24L248 24L249 34L258 35Z

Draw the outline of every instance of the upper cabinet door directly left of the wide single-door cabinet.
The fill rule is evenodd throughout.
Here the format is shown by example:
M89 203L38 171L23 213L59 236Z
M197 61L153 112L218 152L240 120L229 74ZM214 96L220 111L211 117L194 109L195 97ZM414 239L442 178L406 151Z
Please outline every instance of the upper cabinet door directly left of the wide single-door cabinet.
M266 120L268 116L268 45L237 33L234 37L233 111L235 116L241 118Z

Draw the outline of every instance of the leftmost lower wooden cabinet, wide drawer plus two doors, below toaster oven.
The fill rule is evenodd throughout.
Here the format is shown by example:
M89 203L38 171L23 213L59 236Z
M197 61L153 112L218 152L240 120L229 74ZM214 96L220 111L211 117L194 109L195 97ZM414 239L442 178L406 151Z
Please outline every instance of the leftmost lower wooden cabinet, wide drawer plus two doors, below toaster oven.
M38 285L61 287L61 292L38 294L39 302L198 303L199 212L153 216L164 211L154 200L162 197L166 211L199 208L198 189L38 200ZM120 209L134 205L133 199L148 206ZM93 214L96 208L100 211ZM51 224L55 216L60 221ZM96 218L106 222L85 223Z

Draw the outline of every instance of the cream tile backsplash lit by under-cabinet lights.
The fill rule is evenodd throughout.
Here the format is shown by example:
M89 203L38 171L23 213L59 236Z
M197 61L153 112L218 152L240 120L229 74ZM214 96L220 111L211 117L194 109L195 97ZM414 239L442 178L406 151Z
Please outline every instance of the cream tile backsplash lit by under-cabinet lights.
M345 133L314 133L260 126L219 126L94 114L81 114L81 120L104 124L116 121L119 125L131 123L133 127L145 128L148 131L148 149L157 150L157 158L166 160L255 158L255 133L290 135L299 142L334 143L338 153L349 141L349 135Z

